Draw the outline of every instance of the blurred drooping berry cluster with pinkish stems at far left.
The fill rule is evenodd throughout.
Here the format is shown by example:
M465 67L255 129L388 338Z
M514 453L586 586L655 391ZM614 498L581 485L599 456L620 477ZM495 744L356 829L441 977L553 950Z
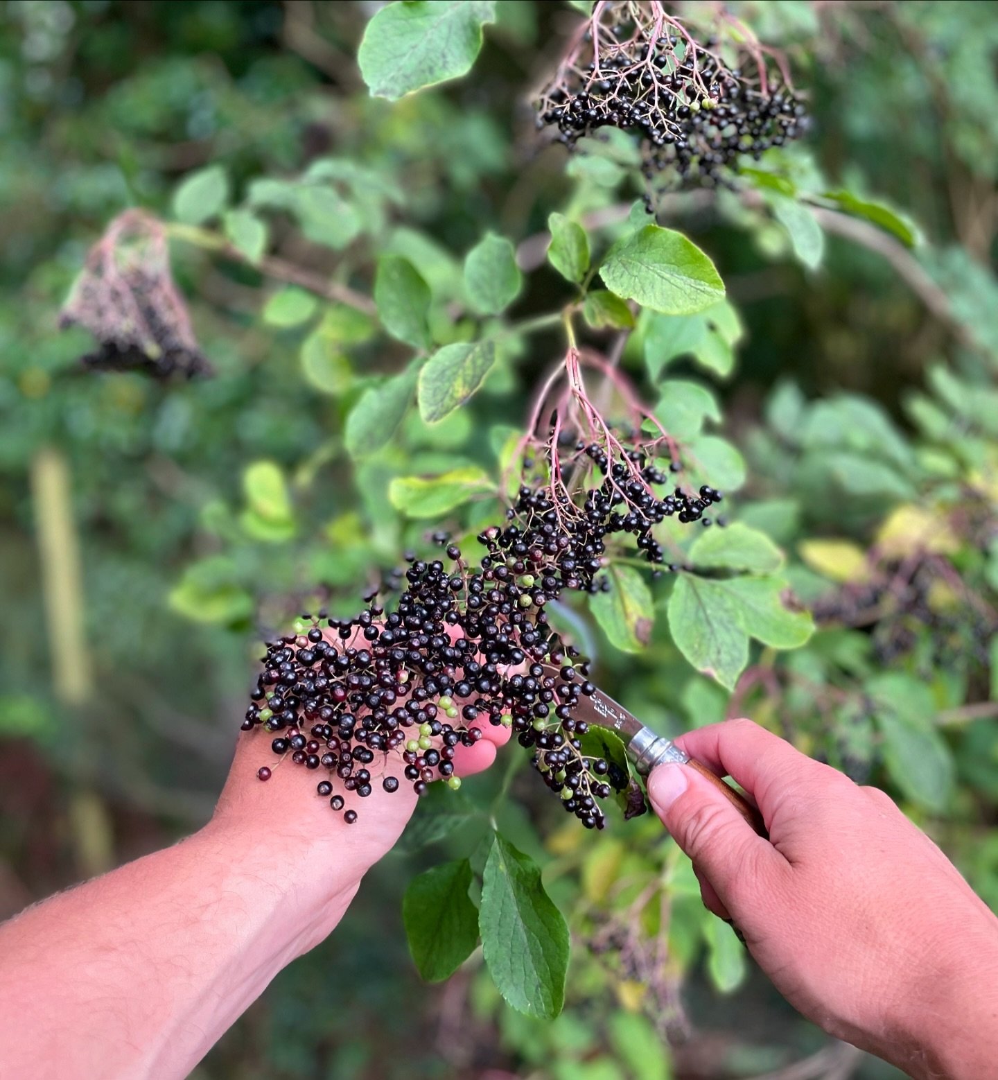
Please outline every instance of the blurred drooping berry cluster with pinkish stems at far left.
M86 367L165 379L211 372L170 272L162 222L140 211L117 217L86 256L60 325L82 326L97 348Z

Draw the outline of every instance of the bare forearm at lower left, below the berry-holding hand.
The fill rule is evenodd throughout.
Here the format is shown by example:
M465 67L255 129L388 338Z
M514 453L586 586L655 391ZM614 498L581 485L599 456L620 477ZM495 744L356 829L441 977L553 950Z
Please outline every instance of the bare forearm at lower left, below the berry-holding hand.
M339 921L366 868L341 855L214 822L6 923L0 1075L186 1077Z

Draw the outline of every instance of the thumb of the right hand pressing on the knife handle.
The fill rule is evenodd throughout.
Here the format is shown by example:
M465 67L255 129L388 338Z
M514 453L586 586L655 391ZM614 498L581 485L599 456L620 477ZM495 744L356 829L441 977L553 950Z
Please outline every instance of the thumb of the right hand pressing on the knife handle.
M737 892L760 889L772 861L781 858L714 784L685 765L655 769L648 778L648 798L725 906Z

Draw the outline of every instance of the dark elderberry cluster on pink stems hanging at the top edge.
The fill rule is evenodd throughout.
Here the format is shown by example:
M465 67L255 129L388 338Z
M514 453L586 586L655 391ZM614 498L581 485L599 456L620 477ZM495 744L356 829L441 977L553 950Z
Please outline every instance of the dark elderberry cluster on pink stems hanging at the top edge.
M717 37L697 41L661 4L601 4L539 102L538 125L574 147L601 127L642 139L653 189L732 183L742 154L758 159L806 126L782 66L742 45L729 67Z

